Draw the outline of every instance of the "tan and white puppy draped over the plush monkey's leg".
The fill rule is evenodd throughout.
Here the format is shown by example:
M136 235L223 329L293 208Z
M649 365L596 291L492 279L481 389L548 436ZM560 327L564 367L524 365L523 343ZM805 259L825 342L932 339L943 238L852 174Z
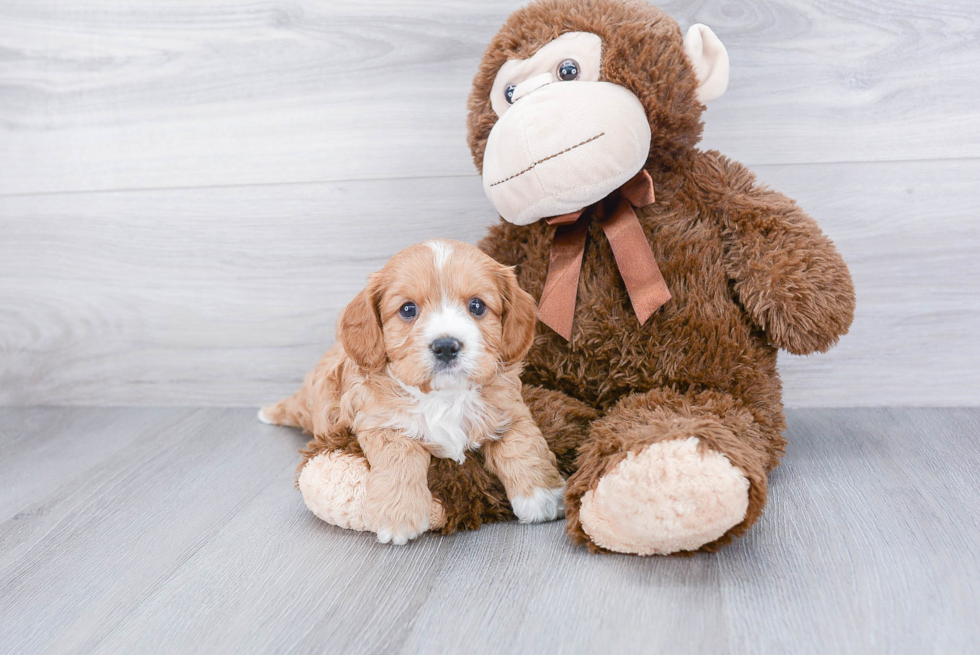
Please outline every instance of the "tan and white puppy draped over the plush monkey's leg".
M474 246L426 241L368 278L337 343L259 418L313 434L349 429L368 460L365 522L382 543L429 527L430 456L482 449L522 522L564 515L564 480L521 398L536 307Z

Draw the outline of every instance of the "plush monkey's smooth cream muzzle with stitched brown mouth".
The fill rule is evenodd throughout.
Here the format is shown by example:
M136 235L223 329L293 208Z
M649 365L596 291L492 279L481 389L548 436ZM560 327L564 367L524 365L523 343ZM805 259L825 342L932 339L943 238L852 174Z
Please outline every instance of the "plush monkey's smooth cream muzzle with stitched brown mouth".
M483 189L516 225L577 211L625 184L646 163L650 125L643 105L609 82L547 82L515 90L494 125Z

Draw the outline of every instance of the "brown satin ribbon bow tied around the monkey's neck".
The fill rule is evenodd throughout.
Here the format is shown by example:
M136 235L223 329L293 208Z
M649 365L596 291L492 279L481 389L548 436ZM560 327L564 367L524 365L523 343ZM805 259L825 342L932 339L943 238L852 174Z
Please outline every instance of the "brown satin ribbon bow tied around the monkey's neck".
M626 283L626 291L640 325L670 300L667 283L660 274L650 243L633 210L653 201L653 180L649 173L640 171L598 203L571 214L547 219L550 225L557 225L558 229L551 243L548 278L541 292L541 302L538 303L542 323L566 340L572 338L578 279L592 220L598 221L609 239L619 274ZM591 214L587 214L589 209L592 209Z

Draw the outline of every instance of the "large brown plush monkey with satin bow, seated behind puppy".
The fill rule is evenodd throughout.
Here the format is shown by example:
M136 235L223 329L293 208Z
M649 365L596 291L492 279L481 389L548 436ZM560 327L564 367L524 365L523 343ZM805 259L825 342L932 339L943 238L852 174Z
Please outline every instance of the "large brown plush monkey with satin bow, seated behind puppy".
M713 550L766 502L785 440L777 349L823 352L854 313L817 224L741 164L697 149L728 57L644 2L544 0L493 38L469 145L503 220L481 248L516 267L541 322L524 397L592 550ZM350 435L317 435L310 508L363 527ZM433 460L443 532L513 518L479 454Z

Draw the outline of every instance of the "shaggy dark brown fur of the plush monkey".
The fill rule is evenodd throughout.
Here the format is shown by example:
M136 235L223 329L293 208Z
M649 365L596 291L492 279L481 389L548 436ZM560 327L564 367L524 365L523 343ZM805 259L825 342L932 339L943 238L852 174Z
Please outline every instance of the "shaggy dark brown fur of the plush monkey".
M591 543L579 521L582 496L628 453L696 436L749 480L745 519L713 550L747 530L766 501L766 476L785 441L777 348L823 352L853 319L850 274L817 224L744 166L696 149L697 78L677 23L644 2L544 0L516 11L490 42L473 82L468 142L482 170L497 120L490 89L508 59L526 58L566 32L603 40L601 78L641 101L652 142L646 170L656 202L638 211L672 299L640 326L609 243L595 223L578 287L570 342L538 324L523 376L524 398L559 467L569 475L568 532ZM555 228L500 222L480 247L516 267L541 297ZM356 451L350 435L325 448ZM433 495L444 532L513 518L500 483L474 457L462 467L433 460Z

